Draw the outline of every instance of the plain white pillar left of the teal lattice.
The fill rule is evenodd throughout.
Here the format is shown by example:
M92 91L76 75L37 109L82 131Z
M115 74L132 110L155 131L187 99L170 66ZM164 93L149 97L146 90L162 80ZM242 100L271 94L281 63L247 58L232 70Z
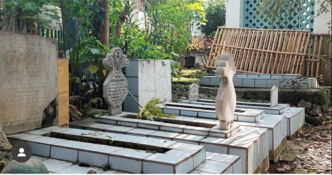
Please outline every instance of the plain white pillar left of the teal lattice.
M243 0L227 0L226 27L243 27Z

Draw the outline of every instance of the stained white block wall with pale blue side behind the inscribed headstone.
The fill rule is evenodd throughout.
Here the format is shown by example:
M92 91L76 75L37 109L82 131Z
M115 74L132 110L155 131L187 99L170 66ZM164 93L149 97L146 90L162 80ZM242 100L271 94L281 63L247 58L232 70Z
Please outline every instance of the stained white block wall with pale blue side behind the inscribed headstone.
M130 59L126 68L129 92L143 107L152 98L159 102L172 101L171 61ZM124 111L138 112L138 105L128 95L124 102Z

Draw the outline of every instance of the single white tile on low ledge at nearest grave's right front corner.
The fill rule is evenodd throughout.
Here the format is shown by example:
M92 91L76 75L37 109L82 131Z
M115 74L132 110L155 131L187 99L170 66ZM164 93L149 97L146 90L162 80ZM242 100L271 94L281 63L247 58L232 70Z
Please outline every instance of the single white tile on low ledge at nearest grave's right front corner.
M228 166L230 166L229 163L206 160L195 168L195 170L220 174L224 172Z

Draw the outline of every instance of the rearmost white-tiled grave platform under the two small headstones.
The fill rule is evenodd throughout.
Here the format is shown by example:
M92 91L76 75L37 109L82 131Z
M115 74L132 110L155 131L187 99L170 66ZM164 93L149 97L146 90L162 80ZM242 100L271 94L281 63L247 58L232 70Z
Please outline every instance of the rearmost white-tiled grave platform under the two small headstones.
M187 102L181 101L179 103L185 104L194 104L194 105L202 105L202 106L215 106L215 101L212 99L198 99L197 102ZM304 108L294 108L290 107L287 104L278 104L275 107L268 107L270 104L268 103L251 103L251 102L236 102L236 107L238 109L246 108L246 109L262 109L265 111L265 116L270 116L267 114L280 114L278 116L287 117L287 139L293 138L297 131L304 124ZM246 104L246 105L245 105ZM195 109L196 110L196 109ZM235 118L234 118L235 120ZM251 126L251 125L250 125Z

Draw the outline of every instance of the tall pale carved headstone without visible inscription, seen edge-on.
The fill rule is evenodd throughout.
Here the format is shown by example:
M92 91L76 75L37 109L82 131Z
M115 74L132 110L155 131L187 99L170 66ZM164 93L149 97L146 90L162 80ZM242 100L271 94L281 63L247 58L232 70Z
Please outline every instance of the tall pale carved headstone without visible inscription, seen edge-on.
M216 112L220 129L228 130L233 126L233 115L236 106L236 94L233 84L236 67L231 54L222 54L219 60L216 73L221 77L221 81L216 97Z

